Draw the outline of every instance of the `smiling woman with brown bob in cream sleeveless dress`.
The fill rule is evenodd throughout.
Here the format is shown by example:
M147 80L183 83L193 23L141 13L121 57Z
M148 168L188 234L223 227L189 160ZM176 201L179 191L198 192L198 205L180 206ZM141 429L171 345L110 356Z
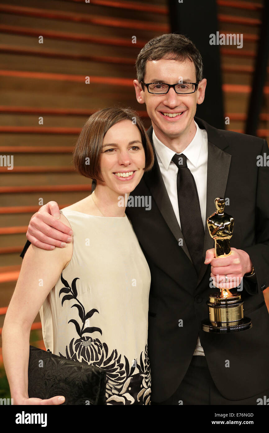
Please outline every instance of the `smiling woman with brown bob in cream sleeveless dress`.
M29 334L40 310L46 349L106 370L107 404L150 404L150 271L122 197L152 168L152 146L135 112L105 108L86 121L73 160L96 188L60 212L73 243L51 251L31 245L25 254L2 333L11 397L64 401L28 398Z

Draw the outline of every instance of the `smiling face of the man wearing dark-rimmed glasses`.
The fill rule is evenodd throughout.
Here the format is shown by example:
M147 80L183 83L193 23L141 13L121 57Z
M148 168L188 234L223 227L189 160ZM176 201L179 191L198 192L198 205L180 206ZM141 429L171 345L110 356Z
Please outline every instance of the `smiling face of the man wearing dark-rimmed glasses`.
M195 65L189 59L179 61L161 58L147 61L144 82L196 83ZM184 95L176 94L173 88L170 88L164 95L150 94L146 86L142 90L141 83L138 83L137 80L134 80L133 83L136 89L136 99L139 103L146 103L155 134L161 142L167 145L167 141L174 139L188 141L193 139L196 131L193 118L196 113L196 104L204 100L205 78L200 81L196 92ZM164 113L176 113L177 115L169 117Z

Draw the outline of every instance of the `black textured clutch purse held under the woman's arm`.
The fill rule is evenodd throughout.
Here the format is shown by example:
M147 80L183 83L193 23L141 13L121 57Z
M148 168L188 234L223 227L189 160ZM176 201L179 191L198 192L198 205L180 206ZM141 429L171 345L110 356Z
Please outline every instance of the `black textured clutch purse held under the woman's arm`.
M41 362L42 361L42 362ZM106 373L87 362L70 361L30 346L28 396L65 397L64 404L106 404Z

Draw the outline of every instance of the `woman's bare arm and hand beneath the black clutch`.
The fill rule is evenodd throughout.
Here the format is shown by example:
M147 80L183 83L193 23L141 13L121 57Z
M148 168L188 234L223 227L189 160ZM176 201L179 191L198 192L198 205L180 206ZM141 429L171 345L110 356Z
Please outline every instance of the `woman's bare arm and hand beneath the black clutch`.
M62 214L60 220L70 226ZM63 403L58 401L59 396L48 400L28 398L29 335L41 305L72 254L73 243L51 251L31 245L25 253L2 330L3 362L14 404Z

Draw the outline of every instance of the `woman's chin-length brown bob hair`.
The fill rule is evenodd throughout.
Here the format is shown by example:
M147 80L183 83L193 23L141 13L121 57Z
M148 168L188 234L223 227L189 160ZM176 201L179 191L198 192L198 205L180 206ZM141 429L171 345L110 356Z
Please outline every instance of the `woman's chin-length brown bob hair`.
M109 107L92 114L86 120L77 139L73 151L73 163L82 176L103 182L100 170L100 156L103 139L108 129L120 120L131 120L136 123L141 134L141 141L145 151L145 171L149 171L154 163L152 144L138 114L130 108Z

